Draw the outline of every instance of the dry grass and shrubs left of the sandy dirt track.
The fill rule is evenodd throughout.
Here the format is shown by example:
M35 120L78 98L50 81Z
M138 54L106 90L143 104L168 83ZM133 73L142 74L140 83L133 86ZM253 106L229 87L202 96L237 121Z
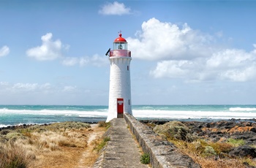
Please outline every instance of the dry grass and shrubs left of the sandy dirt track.
M0 167L33 167L30 165L37 162L37 156L55 156L54 153L59 153L64 148L86 148L84 132L90 127L88 123L64 122L2 131Z

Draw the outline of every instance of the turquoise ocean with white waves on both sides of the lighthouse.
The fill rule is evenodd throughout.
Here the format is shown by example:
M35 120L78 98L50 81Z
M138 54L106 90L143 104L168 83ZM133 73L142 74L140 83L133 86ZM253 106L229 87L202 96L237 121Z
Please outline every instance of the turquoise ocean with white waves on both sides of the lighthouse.
M256 105L133 105L138 120L217 121L256 118ZM0 105L0 127L63 121L105 121L108 106Z

